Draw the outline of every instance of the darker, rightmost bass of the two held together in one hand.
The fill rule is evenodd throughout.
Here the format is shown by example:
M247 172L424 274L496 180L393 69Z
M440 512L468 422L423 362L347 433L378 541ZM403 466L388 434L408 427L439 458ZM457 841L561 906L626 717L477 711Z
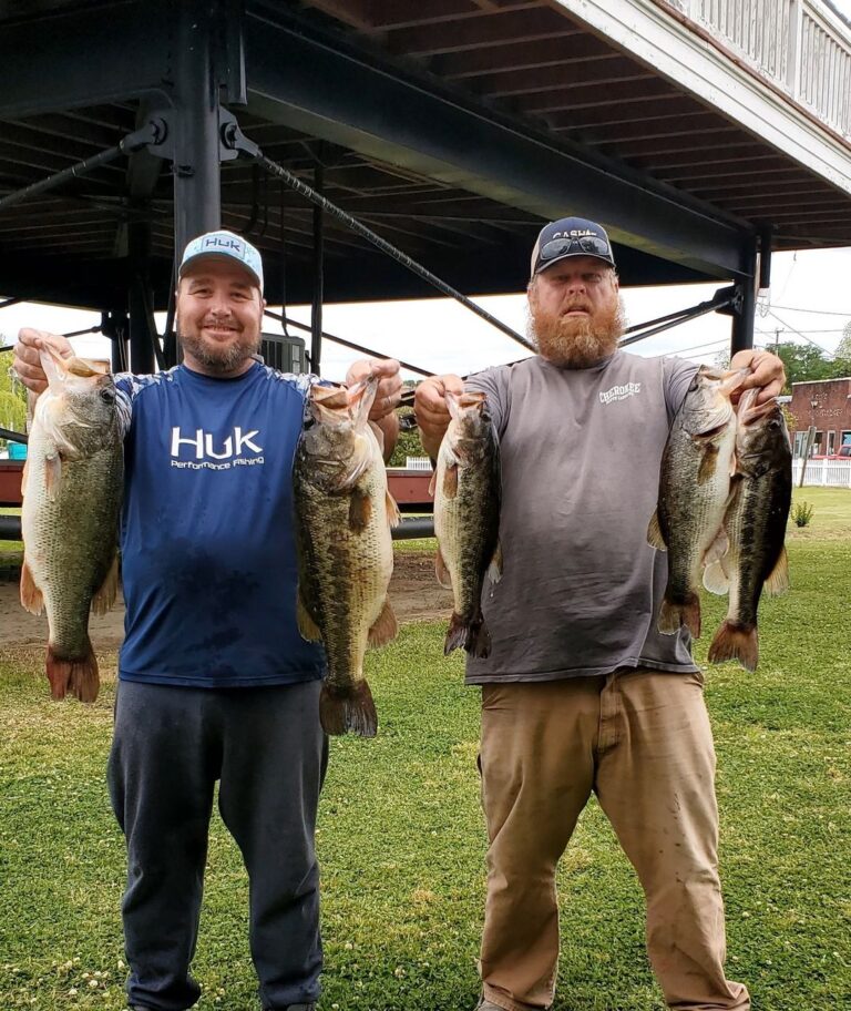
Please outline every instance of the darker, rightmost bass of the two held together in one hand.
M777 400L757 405L758 392L746 390L738 407L736 476L724 520L729 550L704 573L707 590L730 593L709 662L738 660L748 671L759 661L762 589L770 594L789 589L783 539L792 499L792 450L783 412Z

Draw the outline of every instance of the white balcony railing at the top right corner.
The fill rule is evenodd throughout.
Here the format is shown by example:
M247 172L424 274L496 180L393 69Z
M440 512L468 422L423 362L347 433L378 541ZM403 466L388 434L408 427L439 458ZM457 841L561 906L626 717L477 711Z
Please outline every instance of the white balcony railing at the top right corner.
M851 137L851 28L819 0L668 0Z

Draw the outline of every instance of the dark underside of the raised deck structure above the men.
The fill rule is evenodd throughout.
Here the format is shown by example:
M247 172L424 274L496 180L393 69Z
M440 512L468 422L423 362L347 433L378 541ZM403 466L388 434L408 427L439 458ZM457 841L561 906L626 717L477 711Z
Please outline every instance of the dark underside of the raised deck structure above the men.
M821 0L0 0L0 201L162 110L191 133L218 91L267 157L461 290L522 287L564 213L609 227L626 284L740 280L760 243L851 244L850 37ZM143 263L164 307L175 195L205 178L182 143L0 206L0 292L126 308ZM312 206L244 160L221 202L270 300L310 300ZM429 294L336 219L324 263L329 300Z

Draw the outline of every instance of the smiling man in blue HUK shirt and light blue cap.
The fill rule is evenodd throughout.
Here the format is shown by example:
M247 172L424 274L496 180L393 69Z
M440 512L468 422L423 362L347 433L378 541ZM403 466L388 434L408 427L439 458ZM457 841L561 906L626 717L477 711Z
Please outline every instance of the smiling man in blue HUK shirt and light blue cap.
M264 308L254 246L229 232L199 236L180 269L183 364L116 377L126 617L109 785L127 841L122 913L136 1011L184 1011L198 999L189 963L216 780L248 870L264 1009L312 1011L319 995L325 658L296 627L291 486L317 380L257 359ZM47 340L72 354L28 329L16 347L16 369L37 394ZM370 417L389 456L399 362L355 362L347 382L369 372L381 376Z

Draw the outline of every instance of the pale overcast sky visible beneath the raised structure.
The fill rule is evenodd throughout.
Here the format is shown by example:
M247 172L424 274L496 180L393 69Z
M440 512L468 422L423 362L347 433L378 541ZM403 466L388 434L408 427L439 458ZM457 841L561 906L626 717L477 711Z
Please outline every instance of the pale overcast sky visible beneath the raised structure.
M851 18L851 0L832 0ZM524 264L517 265L522 283ZM664 316L697 305L722 285L687 285L624 289L629 324ZM9 293L13 294L13 293ZM504 295L478 299L492 315L515 330L525 333L525 298ZM309 323L309 308L291 306L288 314ZM163 319L158 316L162 328ZM0 310L2 343L11 343L18 328L34 326L53 333L79 330L100 323L100 315L54 306L22 304ZM806 253L776 254L771 289L761 299L756 319L756 343L769 346L776 339L811 341L831 353L851 323L851 247ZM399 357L435 372L465 372L514 361L529 353L468 309L447 299L368 305L326 305L324 328L330 334ZM265 329L279 331L273 319ZM712 361L729 344L730 319L711 313L693 323L633 345L639 355L677 354L699 361ZM78 354L109 357L109 341L101 337L75 338ZM357 353L331 343L322 350L322 375L345 375ZM408 374L412 377L412 374Z

